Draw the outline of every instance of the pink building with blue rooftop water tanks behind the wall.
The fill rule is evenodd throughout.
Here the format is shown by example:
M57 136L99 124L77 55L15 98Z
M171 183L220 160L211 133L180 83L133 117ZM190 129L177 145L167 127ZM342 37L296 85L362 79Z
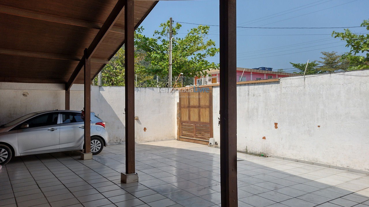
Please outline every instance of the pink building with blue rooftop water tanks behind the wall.
M207 72L208 76L206 77L194 77L193 84L194 85L208 85L208 84L216 84L220 82L220 70L210 70ZM255 81L255 80L264 80L271 78L281 78L288 76L298 76L299 74L295 73L284 73L277 72L271 70L258 70L258 69L249 69L249 68L237 68L236 80L237 82L242 81Z

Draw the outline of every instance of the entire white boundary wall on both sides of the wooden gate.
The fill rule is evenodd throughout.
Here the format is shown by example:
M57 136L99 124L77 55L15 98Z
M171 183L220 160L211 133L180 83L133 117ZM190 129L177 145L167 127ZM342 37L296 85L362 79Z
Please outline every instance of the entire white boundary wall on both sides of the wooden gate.
M369 171L368 76L369 70L348 71L238 85L237 150ZM109 143L124 141L124 87L92 86L91 95L92 111L107 122ZM0 124L64 109L64 96L64 84L0 83ZM71 110L83 108L83 85L72 86L70 100ZM177 102L178 93L135 88L136 141L176 138ZM218 117L214 87L214 138L221 145Z

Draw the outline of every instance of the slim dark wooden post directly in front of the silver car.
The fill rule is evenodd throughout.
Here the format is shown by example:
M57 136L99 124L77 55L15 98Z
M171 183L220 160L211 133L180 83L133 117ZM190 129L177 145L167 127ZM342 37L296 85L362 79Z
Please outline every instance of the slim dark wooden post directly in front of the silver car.
M87 48L85 49L85 56L87 56ZM91 62L90 59L84 59L84 107L85 107L85 153L91 152L91 133L90 133L90 122L91 122Z

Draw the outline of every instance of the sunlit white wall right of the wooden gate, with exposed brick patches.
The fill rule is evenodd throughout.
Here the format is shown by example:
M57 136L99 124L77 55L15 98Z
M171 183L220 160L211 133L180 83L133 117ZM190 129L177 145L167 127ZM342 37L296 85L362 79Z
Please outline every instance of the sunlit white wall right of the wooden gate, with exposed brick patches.
M237 150L369 171L368 76L369 70L348 71L238 85ZM219 143L218 117L214 87Z

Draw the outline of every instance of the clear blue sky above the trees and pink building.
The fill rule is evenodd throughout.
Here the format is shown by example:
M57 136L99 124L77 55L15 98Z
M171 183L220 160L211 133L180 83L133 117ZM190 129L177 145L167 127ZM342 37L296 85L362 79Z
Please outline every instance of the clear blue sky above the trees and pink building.
M237 25L244 27L354 27L369 18L369 0L238 0ZM162 22L174 21L219 25L218 0L159 1L142 22L144 34L152 36ZM182 24L180 32L196 25ZM322 51L348 52L345 42L332 31L343 29L237 29L237 66L292 68L289 62L319 60ZM352 28L366 32L365 28ZM209 38L219 47L218 27L210 27ZM318 34L318 35L306 35ZM179 36L180 37L180 36ZM310 50L310 51L308 51ZM219 55L209 61L218 63Z

